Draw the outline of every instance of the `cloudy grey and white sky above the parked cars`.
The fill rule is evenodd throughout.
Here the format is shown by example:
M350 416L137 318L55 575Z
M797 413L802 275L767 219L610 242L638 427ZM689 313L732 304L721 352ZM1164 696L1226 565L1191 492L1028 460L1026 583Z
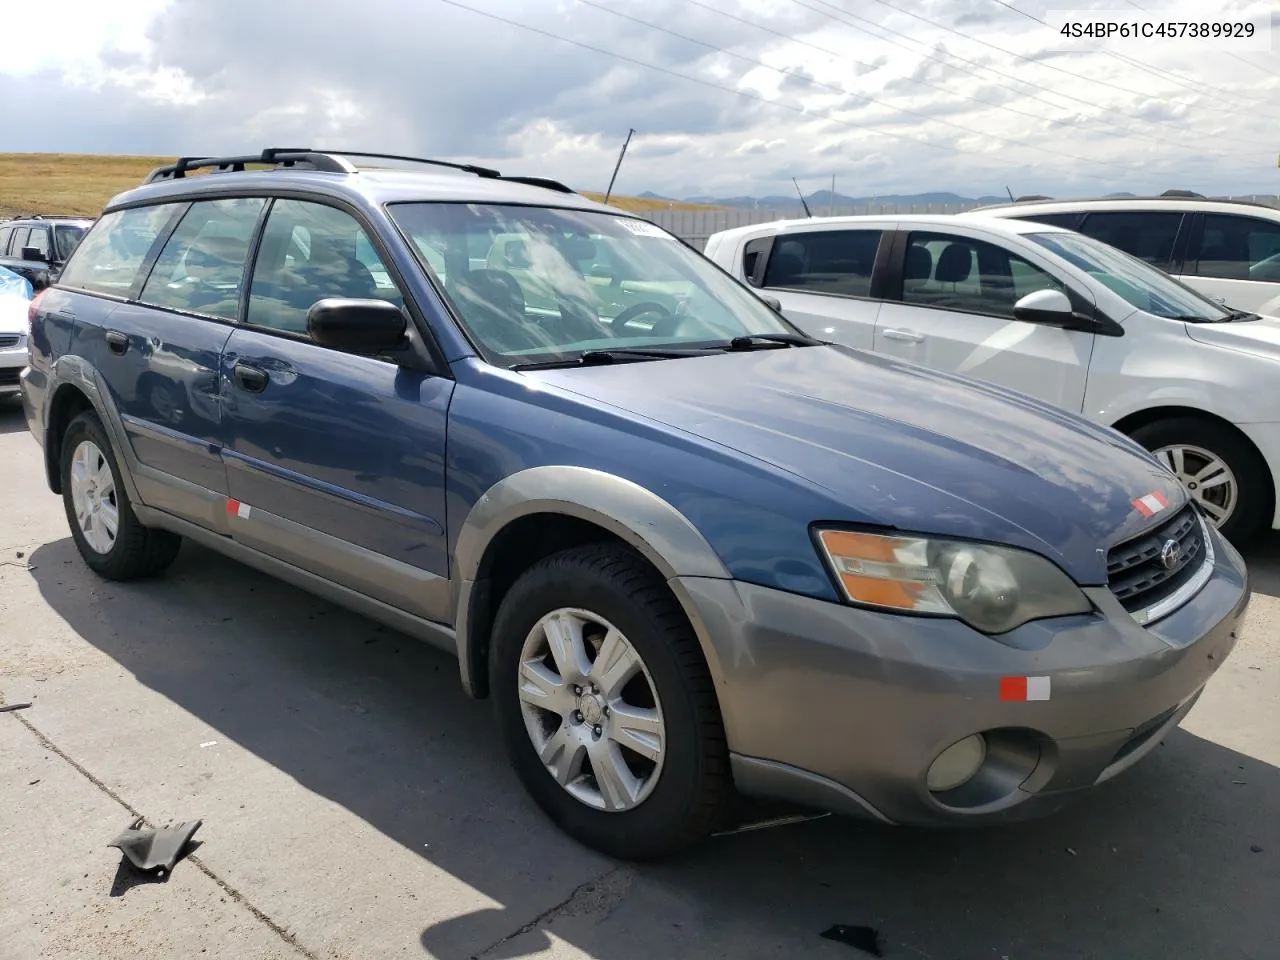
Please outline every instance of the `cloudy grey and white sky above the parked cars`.
M1274 17L1215 0L1215 19ZM1140 9L1139 9L1140 8ZM58 0L6 6L0 151L328 146L617 192L1280 193L1271 49L1071 41L1203 0ZM29 20L29 22L24 22ZM1202 19L1199 14L1194 19ZM1059 20L1060 22L1060 20ZM1266 19L1262 20L1266 23Z

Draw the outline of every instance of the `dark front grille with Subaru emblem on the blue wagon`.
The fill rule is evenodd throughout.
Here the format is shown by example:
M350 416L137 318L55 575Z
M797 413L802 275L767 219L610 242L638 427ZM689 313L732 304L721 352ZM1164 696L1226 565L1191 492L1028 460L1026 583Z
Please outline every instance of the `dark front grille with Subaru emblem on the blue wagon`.
M1107 554L1107 586L1139 616L1172 596L1199 573L1207 561L1204 525L1190 504L1160 526L1125 540Z

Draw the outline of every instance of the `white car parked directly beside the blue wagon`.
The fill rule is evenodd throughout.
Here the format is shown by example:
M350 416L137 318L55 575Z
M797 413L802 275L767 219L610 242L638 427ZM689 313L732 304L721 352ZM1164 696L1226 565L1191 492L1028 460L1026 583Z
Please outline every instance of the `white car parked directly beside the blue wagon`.
M1280 320L1028 220L782 220L717 233L705 253L813 337L989 380L1128 434L1238 543L1280 527Z

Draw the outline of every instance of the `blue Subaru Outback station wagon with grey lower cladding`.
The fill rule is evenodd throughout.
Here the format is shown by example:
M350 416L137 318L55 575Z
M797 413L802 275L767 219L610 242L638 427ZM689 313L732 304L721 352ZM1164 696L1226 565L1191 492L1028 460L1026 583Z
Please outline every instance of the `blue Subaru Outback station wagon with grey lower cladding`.
M1053 810L1179 723L1249 598L1120 434L483 168L160 168L33 302L22 389L90 567L187 539L454 653L534 800L623 858L736 794Z

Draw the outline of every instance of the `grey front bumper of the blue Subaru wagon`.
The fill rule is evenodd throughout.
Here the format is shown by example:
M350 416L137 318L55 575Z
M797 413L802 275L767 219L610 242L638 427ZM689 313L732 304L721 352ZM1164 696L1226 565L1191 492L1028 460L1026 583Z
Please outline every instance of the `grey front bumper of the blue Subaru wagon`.
M1106 588L1102 613L1028 623L1001 640L955 620L901 617L739 581L684 577L739 788L892 823L1020 819L1120 773L1158 745L1235 646L1244 562L1215 539L1211 579L1140 627ZM1001 699L1002 677L1050 677L1050 699ZM925 776L984 733L964 787Z

